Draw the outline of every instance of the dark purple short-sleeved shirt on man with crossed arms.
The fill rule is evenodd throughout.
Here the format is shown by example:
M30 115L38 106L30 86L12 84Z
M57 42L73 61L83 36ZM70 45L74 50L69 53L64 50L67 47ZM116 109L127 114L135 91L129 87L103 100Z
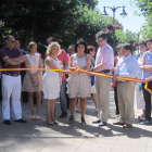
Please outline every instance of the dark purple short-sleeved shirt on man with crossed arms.
M12 51L4 47L0 50L0 60L1 60L1 67L2 68L21 68L21 64L17 65L10 65L7 64L2 59L4 56L9 56L10 59L14 59L14 58L18 58L21 54L23 54L18 49L13 48ZM12 74L12 75L17 75L20 74L20 71L4 71L8 74Z

